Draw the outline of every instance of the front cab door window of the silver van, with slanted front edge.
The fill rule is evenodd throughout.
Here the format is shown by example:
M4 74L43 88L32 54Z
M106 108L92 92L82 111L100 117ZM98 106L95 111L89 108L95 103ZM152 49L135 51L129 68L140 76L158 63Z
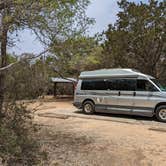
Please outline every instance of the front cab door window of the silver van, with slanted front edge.
M148 80L137 80L137 91L158 91Z

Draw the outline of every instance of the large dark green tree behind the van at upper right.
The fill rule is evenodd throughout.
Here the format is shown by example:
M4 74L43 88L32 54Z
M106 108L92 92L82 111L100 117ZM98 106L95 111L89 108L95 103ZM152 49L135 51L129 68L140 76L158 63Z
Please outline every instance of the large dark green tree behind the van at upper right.
M166 1L118 2L120 12L103 44L106 67L130 67L158 77L166 51Z

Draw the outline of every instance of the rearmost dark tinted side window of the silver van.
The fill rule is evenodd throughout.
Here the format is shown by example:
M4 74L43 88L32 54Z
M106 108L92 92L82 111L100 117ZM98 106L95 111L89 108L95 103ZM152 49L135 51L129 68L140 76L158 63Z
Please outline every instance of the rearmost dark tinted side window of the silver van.
M81 90L107 90L105 80L83 80Z

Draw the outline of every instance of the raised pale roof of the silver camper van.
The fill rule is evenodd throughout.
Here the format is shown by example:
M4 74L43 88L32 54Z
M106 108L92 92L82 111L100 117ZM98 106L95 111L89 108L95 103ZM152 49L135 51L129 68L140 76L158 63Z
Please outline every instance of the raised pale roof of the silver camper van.
M153 79L152 76L143 74L135 69L100 69L94 71L85 71L81 72L79 78L86 79L86 78L108 78L108 77L139 77L139 78L149 78Z

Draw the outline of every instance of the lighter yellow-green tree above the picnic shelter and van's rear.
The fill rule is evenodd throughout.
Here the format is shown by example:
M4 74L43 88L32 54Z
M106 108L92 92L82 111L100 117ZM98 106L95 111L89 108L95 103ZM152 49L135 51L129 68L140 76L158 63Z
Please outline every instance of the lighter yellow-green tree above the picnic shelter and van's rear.
M63 47L57 49L57 45ZM53 42L51 47L57 56L53 65L66 76L78 77L81 71L96 69L100 65L102 47L95 37L80 35L62 42Z

